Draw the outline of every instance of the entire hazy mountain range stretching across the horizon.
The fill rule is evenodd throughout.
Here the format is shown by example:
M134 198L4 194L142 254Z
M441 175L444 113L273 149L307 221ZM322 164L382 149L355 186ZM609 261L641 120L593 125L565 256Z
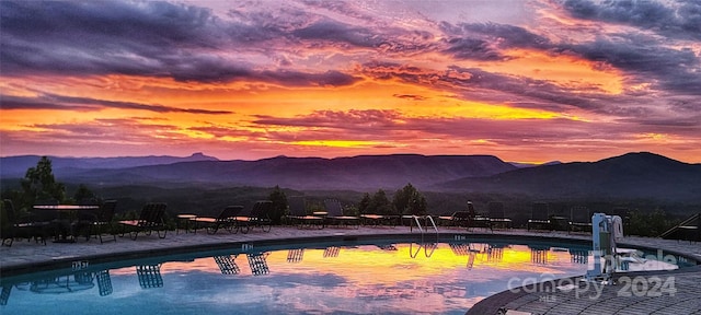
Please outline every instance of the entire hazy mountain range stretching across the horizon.
M21 178L39 156L0 158L4 180ZM100 186L235 185L300 190L420 190L522 194L542 198L642 198L701 205L701 164L637 152L597 162L517 167L493 155L276 156L220 161L187 158L53 158L59 182Z

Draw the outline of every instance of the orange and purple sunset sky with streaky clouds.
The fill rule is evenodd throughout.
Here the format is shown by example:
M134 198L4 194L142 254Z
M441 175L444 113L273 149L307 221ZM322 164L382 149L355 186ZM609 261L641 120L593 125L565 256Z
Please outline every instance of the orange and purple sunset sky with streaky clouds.
M0 2L0 155L701 162L701 1Z

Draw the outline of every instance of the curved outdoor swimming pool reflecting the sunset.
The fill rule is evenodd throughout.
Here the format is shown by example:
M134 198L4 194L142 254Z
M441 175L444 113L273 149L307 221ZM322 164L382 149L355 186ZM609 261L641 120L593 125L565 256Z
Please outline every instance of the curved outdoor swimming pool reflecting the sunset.
M588 246L455 236L237 248L2 279L2 314L464 314L480 300L584 275ZM532 283L532 282L531 282Z

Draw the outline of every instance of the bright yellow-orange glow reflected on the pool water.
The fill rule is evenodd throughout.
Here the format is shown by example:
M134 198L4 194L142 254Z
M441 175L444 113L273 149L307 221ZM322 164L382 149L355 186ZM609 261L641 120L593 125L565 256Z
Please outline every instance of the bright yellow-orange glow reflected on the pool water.
M486 269L496 272L535 271L558 275L559 261L570 262L571 255L567 252L541 252L540 258L544 261L533 261L533 253L528 246L516 245L505 248L496 248L498 254L490 254L485 248L476 248L474 257L469 255L456 255L446 244L430 250L426 257L425 248L417 244L398 244L395 250L380 250L376 246L358 246L356 248L341 247L338 256L324 257L324 249L299 249L299 261L289 261L287 250L269 252L265 261L271 267L271 272L294 273L312 272L330 273L343 277L352 283L367 284L393 284L402 281L415 280L423 277L451 277L453 270ZM479 246L478 246L479 247ZM294 250L294 249L290 249ZM410 253L415 253L412 257ZM235 277L251 276L245 254L232 256L240 268L240 275ZM471 265L469 261L472 261ZM203 272L220 273L216 261L211 258L195 259L194 261L163 264L161 273L179 272L185 268L197 269ZM123 270L126 273L131 270ZM495 275L495 278L497 276Z

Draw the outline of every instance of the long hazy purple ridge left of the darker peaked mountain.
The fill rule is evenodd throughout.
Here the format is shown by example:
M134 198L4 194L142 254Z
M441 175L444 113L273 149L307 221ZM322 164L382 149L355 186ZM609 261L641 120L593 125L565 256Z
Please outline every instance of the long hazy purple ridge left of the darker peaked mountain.
M9 158L2 160L3 174L5 173L4 159ZM30 166L35 165L36 161L38 158ZM279 185L296 189L360 190L395 189L407 183L421 187L516 170L516 166L492 155L427 156L420 154L358 155L336 159L276 156L257 161L199 160L100 168L78 168L73 164L54 162L54 174L62 182L100 185L210 183L262 187ZM71 165L71 167L62 167L64 165ZM81 165L84 166L84 164ZM7 173L16 176L19 171L24 172L26 167ZM105 183L105 180L108 182Z

